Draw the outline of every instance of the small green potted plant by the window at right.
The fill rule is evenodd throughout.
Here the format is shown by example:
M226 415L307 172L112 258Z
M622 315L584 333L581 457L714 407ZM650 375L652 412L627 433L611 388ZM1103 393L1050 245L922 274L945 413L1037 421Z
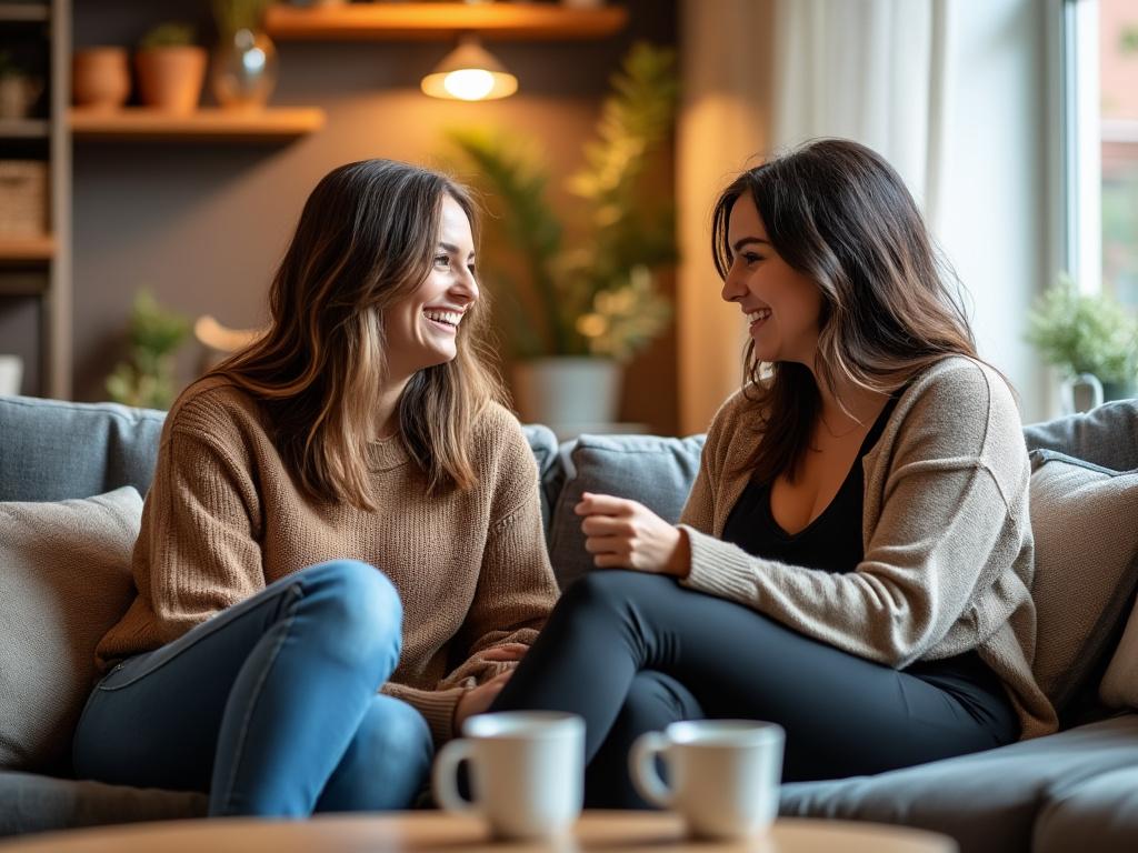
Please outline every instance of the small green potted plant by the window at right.
M1062 276L1028 316L1026 339L1064 374L1067 408L1075 384L1095 390L1090 405L1135 396L1138 317L1107 296L1080 293Z

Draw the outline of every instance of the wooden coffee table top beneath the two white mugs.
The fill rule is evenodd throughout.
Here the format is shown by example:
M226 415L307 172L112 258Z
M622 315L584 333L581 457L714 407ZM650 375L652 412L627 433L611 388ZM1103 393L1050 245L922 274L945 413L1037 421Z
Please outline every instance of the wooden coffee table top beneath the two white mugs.
M477 818L440 812L328 815L305 821L245 818L133 823L27 836L0 844L0 853L954 853L943 835L880 823L780 819L761 842L693 842L678 818L665 812L589 811L574 835L546 844L490 839Z

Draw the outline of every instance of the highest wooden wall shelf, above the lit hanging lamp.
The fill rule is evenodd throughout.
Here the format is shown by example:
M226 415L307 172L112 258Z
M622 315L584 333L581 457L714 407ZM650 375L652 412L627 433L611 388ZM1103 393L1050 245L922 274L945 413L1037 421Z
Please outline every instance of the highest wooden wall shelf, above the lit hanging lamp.
M379 41L453 39L603 39L628 23L621 6L569 9L554 3L352 3L302 9L271 6L269 34L279 40Z

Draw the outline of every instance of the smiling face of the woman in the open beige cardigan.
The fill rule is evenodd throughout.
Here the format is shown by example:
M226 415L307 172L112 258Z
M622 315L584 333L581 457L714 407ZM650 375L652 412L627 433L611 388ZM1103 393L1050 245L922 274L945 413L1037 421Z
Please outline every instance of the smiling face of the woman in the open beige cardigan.
M742 193L731 208L727 241L731 266L723 298L739 304L754 341L754 357L813 368L822 291L775 251L750 193Z

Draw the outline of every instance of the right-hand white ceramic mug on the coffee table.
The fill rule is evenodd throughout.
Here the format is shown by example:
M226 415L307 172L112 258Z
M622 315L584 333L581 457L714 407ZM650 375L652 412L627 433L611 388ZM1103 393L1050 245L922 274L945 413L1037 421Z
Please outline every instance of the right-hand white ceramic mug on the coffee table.
M778 813L785 734L773 722L690 720L641 735L628 755L636 789L678 812L692 835L747 838ZM670 785L655 769L660 756Z

